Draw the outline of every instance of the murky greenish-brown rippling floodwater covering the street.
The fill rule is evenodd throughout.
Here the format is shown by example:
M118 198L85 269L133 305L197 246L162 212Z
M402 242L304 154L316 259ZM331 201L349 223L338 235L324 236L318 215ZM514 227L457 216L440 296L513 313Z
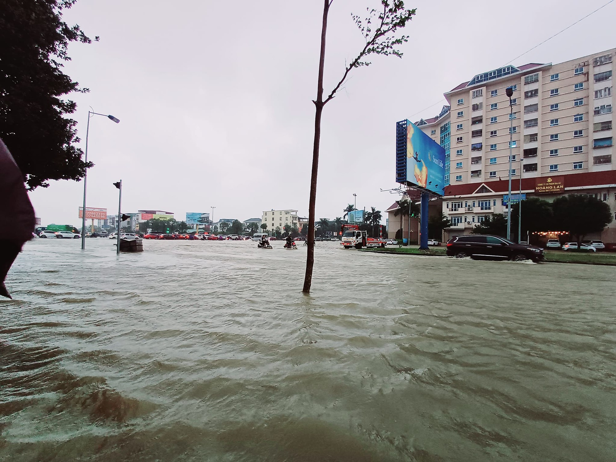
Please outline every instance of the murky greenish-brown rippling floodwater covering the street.
M34 240L2 461L614 461L616 267Z

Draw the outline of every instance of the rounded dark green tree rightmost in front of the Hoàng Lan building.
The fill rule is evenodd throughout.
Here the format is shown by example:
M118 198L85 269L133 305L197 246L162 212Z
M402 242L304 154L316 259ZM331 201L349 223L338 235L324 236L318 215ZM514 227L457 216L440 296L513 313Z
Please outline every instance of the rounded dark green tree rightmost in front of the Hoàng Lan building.
M554 226L569 231L575 237L578 248L586 234L601 232L612 222L612 213L607 203L587 194L569 194L554 200ZM524 204L522 204L524 224Z

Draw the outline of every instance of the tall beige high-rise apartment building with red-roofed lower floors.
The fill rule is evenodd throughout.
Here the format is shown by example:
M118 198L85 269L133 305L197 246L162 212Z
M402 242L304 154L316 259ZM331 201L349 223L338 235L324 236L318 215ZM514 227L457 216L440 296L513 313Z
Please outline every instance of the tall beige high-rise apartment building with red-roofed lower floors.
M447 147L443 213L469 233L492 213L508 213L509 140L512 193L553 200L590 193L616 220L612 75L616 49L559 64L513 65L473 76L445 93L450 106L416 125ZM511 107L506 88L513 88ZM559 184L557 188L541 185ZM599 238L599 236L593 237ZM616 243L616 221L602 240Z

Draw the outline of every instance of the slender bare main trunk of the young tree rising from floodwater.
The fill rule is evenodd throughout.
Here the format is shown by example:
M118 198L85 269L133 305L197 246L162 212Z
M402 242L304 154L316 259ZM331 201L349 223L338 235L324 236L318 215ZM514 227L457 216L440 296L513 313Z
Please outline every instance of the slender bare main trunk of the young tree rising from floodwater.
M331 0L324 0L323 7L323 27L321 30L321 55L318 62L318 83L317 99L314 102L316 107L314 116L314 146L312 148L312 176L310 177L310 203L308 206L308 251L306 256L306 276L304 277L304 288L302 292L310 293L312 285L312 267L314 266L314 221L315 204L317 202L317 174L318 174L318 148L321 142L321 115L323 113L323 69L325 68L325 33L327 30L327 14L330 9Z

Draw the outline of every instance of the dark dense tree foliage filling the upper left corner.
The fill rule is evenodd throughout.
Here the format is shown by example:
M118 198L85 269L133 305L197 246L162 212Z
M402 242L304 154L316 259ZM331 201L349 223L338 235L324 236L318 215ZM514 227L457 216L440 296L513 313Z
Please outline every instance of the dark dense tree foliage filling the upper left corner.
M87 92L62 72L68 44L91 43L62 12L76 0L0 1L0 137L17 161L28 188L47 180L79 180L87 166L75 147L76 104L71 92ZM96 38L98 39L98 38Z

